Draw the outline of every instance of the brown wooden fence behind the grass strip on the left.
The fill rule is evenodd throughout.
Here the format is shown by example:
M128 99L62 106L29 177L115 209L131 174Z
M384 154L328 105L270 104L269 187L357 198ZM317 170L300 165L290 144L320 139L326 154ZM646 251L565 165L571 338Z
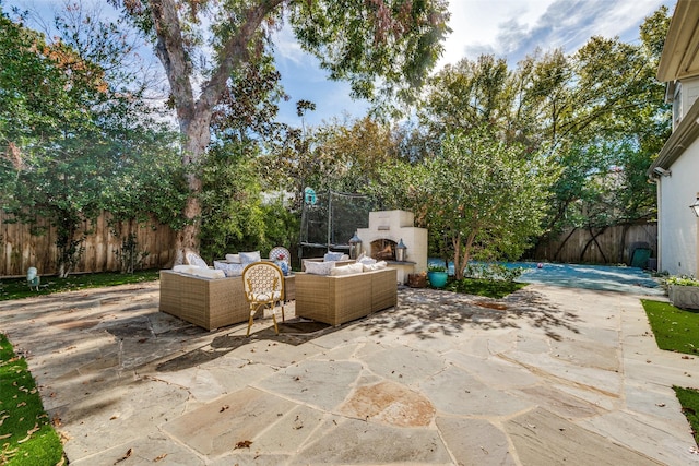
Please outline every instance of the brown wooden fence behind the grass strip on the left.
M107 272L121 268L117 251L129 234L135 235L138 251L147 251L143 260L144 268L166 266L173 259L175 232L166 225L155 220L145 224L135 222L109 225L109 214L103 214L95 223L84 223L82 242L84 252L72 272ZM40 231L36 234L36 230ZM8 223L0 213L0 276L26 275L28 267L36 267L39 275L58 273L58 249L56 229L38 222L35 226L22 223Z

